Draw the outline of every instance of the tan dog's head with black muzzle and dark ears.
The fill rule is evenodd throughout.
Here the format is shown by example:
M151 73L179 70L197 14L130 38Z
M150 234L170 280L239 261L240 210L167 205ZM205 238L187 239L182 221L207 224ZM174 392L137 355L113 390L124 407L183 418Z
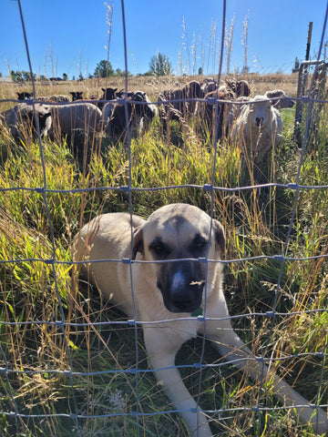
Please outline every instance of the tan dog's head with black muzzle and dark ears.
M171 312L193 312L201 305L207 265L221 259L225 248L222 225L200 208L172 204L157 209L136 229L135 252L152 264L157 286Z

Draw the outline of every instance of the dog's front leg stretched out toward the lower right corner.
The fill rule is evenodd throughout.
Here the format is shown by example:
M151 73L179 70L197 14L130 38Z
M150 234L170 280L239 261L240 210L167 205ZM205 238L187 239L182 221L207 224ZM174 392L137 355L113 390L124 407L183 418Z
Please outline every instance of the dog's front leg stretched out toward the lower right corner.
M232 330L229 320L207 320L205 330L206 337L212 341L213 346L220 351L226 361L233 361L233 365L241 371L245 371L253 381L271 381L272 391L276 397L285 406L295 408L300 422L311 424L313 430L319 434L328 431L327 413L320 408L298 407L297 405L309 405L309 401L294 391L287 382L275 375L267 365L255 357Z

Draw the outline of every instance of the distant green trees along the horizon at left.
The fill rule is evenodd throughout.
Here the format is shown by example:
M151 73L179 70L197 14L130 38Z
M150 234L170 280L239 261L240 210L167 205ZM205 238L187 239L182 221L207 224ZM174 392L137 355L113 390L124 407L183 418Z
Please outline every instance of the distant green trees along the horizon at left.
M151 56L150 62L149 62L149 71L144 73L142 76L169 76L173 73L171 63L169 62L169 58L166 55L163 55L161 53L158 53L155 56ZM97 63L95 72L93 75L88 75L87 77L83 77L83 75L80 73L77 77L77 80L83 80L83 79L91 79L91 78L97 78L97 77L113 77L113 76L125 76L125 71L121 70L120 68L117 68L114 70L113 66L108 60L102 59ZM1 75L1 73L0 73ZM1 75L2 76L2 75ZM1 77L0 76L0 77ZM10 76L12 80L16 83L23 83L23 82L31 82L32 77L31 73L29 71L19 71L19 70L12 70L10 72ZM132 76L128 72L128 76ZM33 75L34 80L68 80L67 73L64 73L62 77L46 77L44 75ZM73 76L72 80L76 80L76 77Z

